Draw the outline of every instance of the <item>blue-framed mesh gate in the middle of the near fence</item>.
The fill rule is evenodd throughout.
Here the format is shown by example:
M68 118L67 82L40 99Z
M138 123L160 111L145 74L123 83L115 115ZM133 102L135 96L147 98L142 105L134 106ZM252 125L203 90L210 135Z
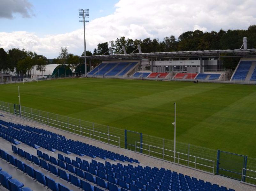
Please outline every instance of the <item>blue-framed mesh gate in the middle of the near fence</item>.
M125 148L135 151L136 142L142 143L142 133L135 131L124 130L125 132ZM142 144L140 145L142 153Z

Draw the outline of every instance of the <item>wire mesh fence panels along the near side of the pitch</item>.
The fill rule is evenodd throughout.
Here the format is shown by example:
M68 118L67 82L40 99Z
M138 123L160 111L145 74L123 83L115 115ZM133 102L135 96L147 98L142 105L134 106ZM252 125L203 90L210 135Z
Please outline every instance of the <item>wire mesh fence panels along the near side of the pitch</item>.
M62 116L24 106L21 106L20 112L19 105L2 101L0 101L0 110L26 118L33 122L53 126L64 131L70 131L88 138L105 142L107 144L125 148L124 129L88 122L81 119ZM149 145L150 149L147 148ZM144 149L144 154L149 154L150 156L157 157L159 159L163 159L164 155L164 160L174 162L173 140L155 137L143 133L142 148ZM146 150L150 150L150 152ZM204 170L210 173L216 173L217 150L176 141L176 153L180 153L180 155L176 155L175 163L190 166L192 168L195 168L196 163L196 169ZM209 167L212 166L213 161L214 171L213 168ZM256 171L256 159L248 157L247 168ZM247 182L249 179L245 179L245 181ZM249 183L256 184L256 181L250 180Z

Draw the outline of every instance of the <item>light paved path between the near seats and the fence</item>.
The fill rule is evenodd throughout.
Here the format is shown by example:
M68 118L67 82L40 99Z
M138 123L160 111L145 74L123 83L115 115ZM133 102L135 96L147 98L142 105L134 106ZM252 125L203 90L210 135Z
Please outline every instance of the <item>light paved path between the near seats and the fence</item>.
M3 112L2 112L2 114L3 114ZM149 156L146 156L146 155L136 153L134 151L130 151L130 150L119 148L119 147L112 146L112 145L108 145L108 144L99 142L97 140L82 137L80 135L76 135L76 134L73 134L73 133L70 133L70 132L62 131L62 130L59 130L59 129L56 129L56 128L53 128L53 127L49 127L49 126L45 126L45 125L37 124L37 123L35 124L35 122L31 123L30 121L26 121L26 120L24 121L24 119L21 119L19 117L13 117L12 120L11 120L10 115L8 115L6 113L4 113L4 116L5 117L0 117L0 119L5 120L5 121L10 121L10 122L13 122L13 123L19 123L19 124L29 125L29 126L32 126L32 127L46 129L48 131L52 131L52 132L58 133L60 135L64 135L66 138L70 138L70 139L73 139L75 141L76 140L82 141L82 142L85 142L85 143L88 143L88 144L91 144L91 145L94 145L94 146L98 146L100 148L103 148L103 149L106 149L106 150L109 150L109 151L112 151L112 152L116 152L116 153L119 153L119 154L129 156L129 157L134 158L134 159L138 159L141 162L141 164L140 164L141 166L151 166L151 167L155 166L155 167L158 167L158 168L163 167L165 169L170 169L171 171L176 171L176 172L182 173L184 175L189 175L190 177L195 177L197 179L201 179L201 180L204 180L204 181L211 182L212 184L218 184L220 186L227 187L228 189L232 188L232 189L235 189L236 191L256 191L256 187L253 187L253 186L250 186L250 185L247 185L247 184L242 184L238 180L233 180L233 179L226 178L226 177L223 177L223 176L220 176L220 175L212 175L212 174L209 174L209 173L204 173L204 172L194 170L194 169L191 169L191 168L187 168L187 167L184 167L184 166L179 166L179 165L167 162L167 161L163 161L161 159L152 158L152 157L149 157ZM97 159L97 160L100 161L100 159ZM112 163L114 163L114 162L112 162Z

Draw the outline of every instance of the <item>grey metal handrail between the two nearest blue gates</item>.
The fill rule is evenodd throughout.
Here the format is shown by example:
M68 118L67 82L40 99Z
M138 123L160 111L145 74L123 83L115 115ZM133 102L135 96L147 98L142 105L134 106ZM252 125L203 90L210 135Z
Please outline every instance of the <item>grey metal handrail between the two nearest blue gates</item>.
M140 146L137 146L137 143L140 144ZM149 149L142 148L141 145L147 145L147 146L149 146ZM152 151L152 150L150 150L150 147L162 149L162 150L163 150L163 153L156 152L156 151ZM206 167L212 168L212 169L213 169L213 174L214 174L214 166L215 166L215 161L214 161L214 160L204 159L204 158L201 158L201 157L196 157L196 156L189 155L189 154L185 154L185 153L182 153L182 152L175 152L175 153L178 154L178 157L174 157L174 156L170 156L170 155L164 154L164 153L165 153L164 151L170 151L170 152L173 152L173 153L174 153L174 151L172 151L172 150L165 149L165 148L160 148L160 147L158 147L158 146L153 146L153 145L149 145L149 144L145 144L145 143L141 143L141 142L137 142L137 141L136 141L136 142L135 142L135 152L137 152L137 148L138 148L139 150L148 151L148 152L149 152L149 156L150 156L150 152L157 153L157 154L161 154L161 155L163 155L163 160L165 160L165 159L164 159L164 156L172 157L173 159L178 159L178 164L180 164L180 160L186 161L186 162L189 162L189 163L194 163L194 164L195 164L194 169L197 169L197 168L196 168L196 165L206 166ZM190 159L191 159L191 157L194 157L194 158L195 158L195 162L190 161L190 160L186 160L186 159L181 159L181 158L180 158L180 154L181 154L181 155L186 155L186 156L188 156ZM177 155L176 155L176 156L177 156ZM204 165L204 164L198 163L198 162L197 162L197 159L203 159L203 160L206 160L206 161L209 161L209 162L213 162L213 166L208 166L208 165Z

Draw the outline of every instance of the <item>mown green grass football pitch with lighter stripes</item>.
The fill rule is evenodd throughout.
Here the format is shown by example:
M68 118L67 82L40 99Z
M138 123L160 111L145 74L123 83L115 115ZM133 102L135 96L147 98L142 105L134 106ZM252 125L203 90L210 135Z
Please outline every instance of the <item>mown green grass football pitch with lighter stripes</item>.
M18 84L0 100L19 103ZM256 157L256 87L219 83L65 79L19 84L21 105L179 142Z

